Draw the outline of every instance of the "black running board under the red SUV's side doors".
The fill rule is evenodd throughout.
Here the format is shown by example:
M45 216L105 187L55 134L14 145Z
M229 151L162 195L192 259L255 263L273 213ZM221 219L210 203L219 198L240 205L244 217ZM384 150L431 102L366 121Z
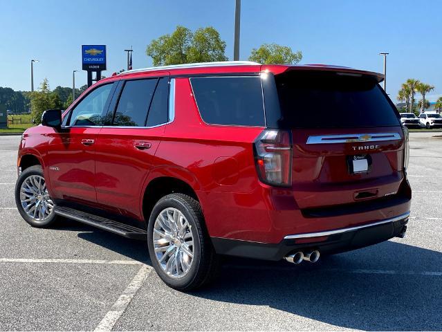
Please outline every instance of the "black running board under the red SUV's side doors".
M122 237L128 237L129 239L145 240L147 239L146 230L125 223L119 223L111 219L103 218L102 216L95 216L72 208L64 208L62 206L55 206L55 214L64 216L68 219L80 221L80 223L86 223L101 230L107 230Z

